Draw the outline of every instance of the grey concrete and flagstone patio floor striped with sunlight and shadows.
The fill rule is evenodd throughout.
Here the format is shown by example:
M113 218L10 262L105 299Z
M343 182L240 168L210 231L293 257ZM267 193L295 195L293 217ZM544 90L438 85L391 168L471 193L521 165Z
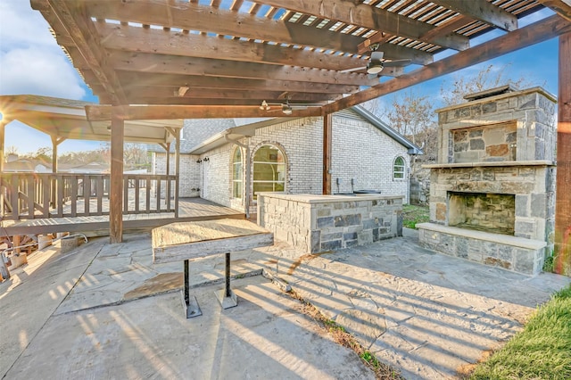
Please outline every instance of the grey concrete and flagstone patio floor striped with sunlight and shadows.
M221 310L222 255L190 263L203 316L183 317L182 263L153 264L151 237L37 252L0 284L0 376L372 378L357 356L261 277L268 268L408 379L454 378L571 283L427 251L415 231L300 257L286 244L232 255L238 306Z

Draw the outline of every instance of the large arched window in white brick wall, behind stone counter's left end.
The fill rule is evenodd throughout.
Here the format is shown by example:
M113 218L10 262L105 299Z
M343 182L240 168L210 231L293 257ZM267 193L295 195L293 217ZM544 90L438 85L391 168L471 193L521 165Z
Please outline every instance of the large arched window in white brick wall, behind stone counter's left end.
M285 189L284 154L274 145L263 145L253 155L253 199L260 192Z

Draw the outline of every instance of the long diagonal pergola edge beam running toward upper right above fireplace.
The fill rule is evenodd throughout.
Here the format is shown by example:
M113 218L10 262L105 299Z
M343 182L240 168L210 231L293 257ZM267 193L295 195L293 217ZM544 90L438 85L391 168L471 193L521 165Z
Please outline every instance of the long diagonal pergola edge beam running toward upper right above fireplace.
M538 44L553 37L571 31L571 23L558 15L535 22L525 28L517 29L509 34L496 37L483 44L476 45L468 50L443 58L438 62L426 65L418 70L411 71L399 78L391 79L375 87L370 87L360 93L347 96L324 107L325 113L337 112L353 105L367 102L381 95L391 94L426 80L438 78L451 72L464 69L476 63L489 61L521 49L525 46Z

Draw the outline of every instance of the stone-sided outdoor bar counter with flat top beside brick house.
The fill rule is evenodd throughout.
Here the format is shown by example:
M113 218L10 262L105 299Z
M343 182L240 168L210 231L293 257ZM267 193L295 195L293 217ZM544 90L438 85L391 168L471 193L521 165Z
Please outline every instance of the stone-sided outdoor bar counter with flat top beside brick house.
M258 194L258 224L304 253L402 235L402 196Z

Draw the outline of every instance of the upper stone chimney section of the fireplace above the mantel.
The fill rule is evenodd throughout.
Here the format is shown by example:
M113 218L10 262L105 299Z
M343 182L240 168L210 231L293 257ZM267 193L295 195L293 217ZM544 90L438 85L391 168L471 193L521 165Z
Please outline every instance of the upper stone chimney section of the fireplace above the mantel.
M510 147L512 144L517 146L517 161L555 161L555 101L541 87L534 87L437 110L438 162L514 161L509 152L513 151L514 147ZM516 128L510 127L510 124ZM484 138L474 136L484 126L493 126L487 132L487 154ZM514 131L516 136L512 135ZM459 154L459 145L454 149L454 136L461 140L460 136L464 136L464 133L473 134L472 137L467 136L475 139L469 141L473 149L472 152ZM459 141L457 143L460 144ZM465 147L470 148L469 145ZM484 154L476 153L482 148ZM490 154L490 150L495 150L495 153Z

